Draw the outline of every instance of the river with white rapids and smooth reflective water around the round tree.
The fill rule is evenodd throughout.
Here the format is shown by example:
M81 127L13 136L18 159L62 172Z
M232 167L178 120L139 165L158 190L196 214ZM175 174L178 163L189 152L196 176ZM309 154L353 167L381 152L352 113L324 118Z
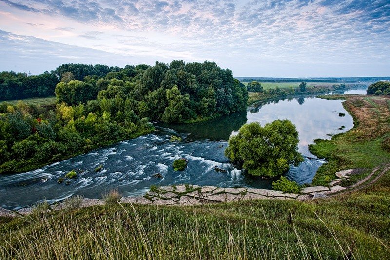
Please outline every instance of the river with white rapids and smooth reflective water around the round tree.
M345 113L339 117L338 113ZM234 168L224 156L229 136L247 122L262 125L275 119L289 119L299 131L299 151L305 161L291 167L287 177L298 183L310 183L324 163L308 151L307 145L315 138L330 138L353 127L351 116L344 110L341 100L323 100L313 96L296 96L255 104L246 113L236 113L215 120L190 125L157 125L152 134L122 141L111 147L95 150L41 169L14 175L3 175L0 182L0 206L18 209L46 198L49 202L62 200L74 194L87 198L100 198L112 188L123 195L141 195L151 185L191 183L222 187L269 188L273 180L247 176ZM338 130L341 126L344 130ZM171 135L182 137L183 142L171 143ZM174 172L172 162L179 157L189 160L185 171ZM104 169L96 173L95 167ZM215 166L226 169L217 173ZM72 169L78 177L57 183L59 177ZM152 177L160 173L163 178Z

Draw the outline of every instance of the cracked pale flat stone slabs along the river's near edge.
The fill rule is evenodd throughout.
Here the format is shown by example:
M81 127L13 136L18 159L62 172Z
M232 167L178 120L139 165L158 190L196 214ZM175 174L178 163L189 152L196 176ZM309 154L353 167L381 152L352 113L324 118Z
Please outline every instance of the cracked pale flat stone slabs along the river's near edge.
M302 194L283 193L281 191L252 189L252 188L220 188L214 186L177 185L163 186L147 192L144 196L122 197L120 203L142 205L199 205L207 203L231 202L239 200L275 199L275 200L312 200L326 198L346 188L334 185L330 188L324 186L307 187ZM82 199L80 207L104 205L104 199ZM50 210L66 209L64 203L50 206ZM31 208L22 208L16 212L0 208L0 216L16 217L27 215Z

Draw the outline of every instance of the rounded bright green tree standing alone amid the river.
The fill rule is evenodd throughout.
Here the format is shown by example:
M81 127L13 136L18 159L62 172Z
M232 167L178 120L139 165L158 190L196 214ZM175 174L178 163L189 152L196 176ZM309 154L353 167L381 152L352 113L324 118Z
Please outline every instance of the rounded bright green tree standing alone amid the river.
M229 139L225 155L256 176L279 176L290 163L303 161L298 153L298 132L289 120L275 120L261 127L253 122L243 125Z

